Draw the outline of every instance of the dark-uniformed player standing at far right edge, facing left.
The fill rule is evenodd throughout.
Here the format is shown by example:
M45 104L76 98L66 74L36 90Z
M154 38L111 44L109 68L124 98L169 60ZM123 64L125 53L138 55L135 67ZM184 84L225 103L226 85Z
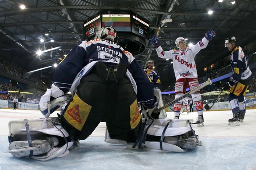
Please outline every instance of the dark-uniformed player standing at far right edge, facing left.
M233 118L229 119L229 125L239 125L245 118L245 93L252 79L252 72L247 65L245 53L237 46L236 38L229 37L225 41L225 47L231 52L230 62L233 74L224 84L224 88L230 89L229 103Z

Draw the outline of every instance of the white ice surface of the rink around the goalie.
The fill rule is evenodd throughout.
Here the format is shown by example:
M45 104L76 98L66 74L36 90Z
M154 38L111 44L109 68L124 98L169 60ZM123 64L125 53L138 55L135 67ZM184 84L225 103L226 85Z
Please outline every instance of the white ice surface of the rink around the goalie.
M173 118L172 112L167 114ZM231 111L204 112L205 126L193 126L203 146L185 153L130 150L124 145L105 143L105 123L80 141L79 149L63 158L42 162L5 153L8 122L40 117L40 111L0 109L0 170L256 170L256 110L247 110L240 126L227 124ZM196 117L196 112L180 116L194 120Z

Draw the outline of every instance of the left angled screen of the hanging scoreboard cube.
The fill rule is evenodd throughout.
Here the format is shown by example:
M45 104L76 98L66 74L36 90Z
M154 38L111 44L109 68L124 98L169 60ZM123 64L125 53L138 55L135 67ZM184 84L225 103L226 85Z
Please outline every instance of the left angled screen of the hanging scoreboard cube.
M88 22L84 21L84 39L88 39L91 36L95 36L95 33L101 28L100 15L91 19Z

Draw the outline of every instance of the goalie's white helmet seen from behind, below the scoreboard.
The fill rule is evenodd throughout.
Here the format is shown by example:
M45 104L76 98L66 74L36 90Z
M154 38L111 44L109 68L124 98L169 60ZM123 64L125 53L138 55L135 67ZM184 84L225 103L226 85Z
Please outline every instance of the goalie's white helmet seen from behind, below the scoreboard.
M106 39L117 43L117 31L112 26L102 27L98 32L96 32L95 39Z

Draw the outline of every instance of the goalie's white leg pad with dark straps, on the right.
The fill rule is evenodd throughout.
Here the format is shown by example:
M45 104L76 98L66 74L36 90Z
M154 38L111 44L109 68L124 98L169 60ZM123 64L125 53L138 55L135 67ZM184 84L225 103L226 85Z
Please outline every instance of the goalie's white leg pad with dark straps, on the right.
M148 119L144 128L144 138L146 135L152 135L156 139L164 137L162 142L148 141L144 139L143 149L159 152L186 152L187 149L194 149L198 143L198 136L194 136L190 127L192 119ZM143 119L145 122L145 119ZM152 123L152 124L151 124ZM188 136L189 135L189 136ZM154 138L153 137L153 138Z

